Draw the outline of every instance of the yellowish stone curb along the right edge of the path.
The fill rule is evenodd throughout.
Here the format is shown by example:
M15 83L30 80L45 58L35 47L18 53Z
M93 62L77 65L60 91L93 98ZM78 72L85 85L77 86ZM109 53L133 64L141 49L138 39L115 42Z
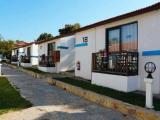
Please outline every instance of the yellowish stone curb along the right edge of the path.
M6 65L12 68L16 68L16 69L18 68L10 64L6 64ZM27 74L30 74L35 78L45 78L50 85L57 86L61 89L64 89L67 92L83 97L103 107L114 109L123 114L131 115L133 117L136 117L138 120L160 120L159 112L148 110L139 106L134 106L134 105L131 105L131 104L128 104L104 95L97 94L89 90L84 90L80 87L76 87L76 86L52 79L52 77L48 77L47 75L34 73L32 71L25 70L23 68L18 68L18 70L25 72Z

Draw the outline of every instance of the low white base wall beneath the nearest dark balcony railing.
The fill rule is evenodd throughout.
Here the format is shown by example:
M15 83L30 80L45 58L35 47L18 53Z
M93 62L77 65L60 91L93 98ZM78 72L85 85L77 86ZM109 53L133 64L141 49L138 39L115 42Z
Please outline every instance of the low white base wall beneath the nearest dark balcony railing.
M92 73L92 84L105 86L118 91L131 92L138 89L138 76L118 76Z

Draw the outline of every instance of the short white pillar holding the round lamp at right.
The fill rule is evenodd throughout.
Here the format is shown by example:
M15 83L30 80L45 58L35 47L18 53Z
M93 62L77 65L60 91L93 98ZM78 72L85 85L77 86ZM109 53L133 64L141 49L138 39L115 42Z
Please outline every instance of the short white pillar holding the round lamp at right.
M153 93L152 93L152 83L153 79L145 78L144 82L146 83L146 108L153 109Z

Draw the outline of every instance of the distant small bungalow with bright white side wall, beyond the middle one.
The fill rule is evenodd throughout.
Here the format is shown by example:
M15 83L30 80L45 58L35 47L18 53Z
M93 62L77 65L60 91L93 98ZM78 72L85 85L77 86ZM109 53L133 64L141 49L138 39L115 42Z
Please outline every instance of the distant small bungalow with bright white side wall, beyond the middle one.
M38 45L35 42L28 43L22 47L20 65L23 67L32 67L38 65Z

